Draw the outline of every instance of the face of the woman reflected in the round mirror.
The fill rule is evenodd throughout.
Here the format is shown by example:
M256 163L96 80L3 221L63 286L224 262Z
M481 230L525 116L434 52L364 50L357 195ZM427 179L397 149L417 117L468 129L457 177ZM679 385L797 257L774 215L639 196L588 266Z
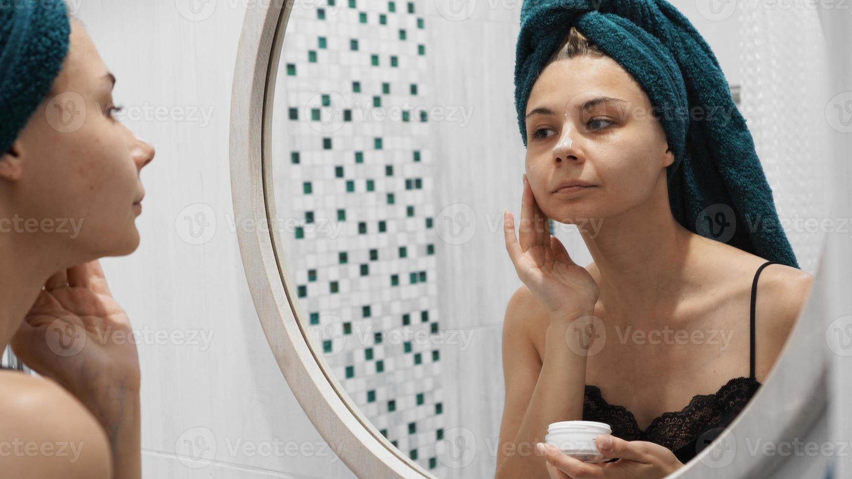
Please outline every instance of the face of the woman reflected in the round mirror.
M540 108L546 111L534 112ZM614 60L550 64L533 85L527 115L527 178L550 218L611 217L648 201L656 186L665 189L665 167L674 161L665 131L648 95ZM596 187L554 194L566 180Z

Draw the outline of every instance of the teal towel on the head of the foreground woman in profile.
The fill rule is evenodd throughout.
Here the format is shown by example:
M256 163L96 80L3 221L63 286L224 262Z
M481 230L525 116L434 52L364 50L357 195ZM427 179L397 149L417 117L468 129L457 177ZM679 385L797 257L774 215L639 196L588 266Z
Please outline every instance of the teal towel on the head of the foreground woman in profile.
M70 35L62 0L0 0L0 151L49 94Z

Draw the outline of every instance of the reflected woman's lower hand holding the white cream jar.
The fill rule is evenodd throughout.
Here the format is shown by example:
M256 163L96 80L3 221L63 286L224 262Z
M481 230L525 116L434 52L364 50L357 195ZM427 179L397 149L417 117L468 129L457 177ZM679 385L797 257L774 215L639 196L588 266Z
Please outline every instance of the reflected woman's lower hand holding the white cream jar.
M544 459L551 479L659 479L683 465L668 448L654 442L625 441L609 435L597 436L598 450L615 462L585 463L545 444Z

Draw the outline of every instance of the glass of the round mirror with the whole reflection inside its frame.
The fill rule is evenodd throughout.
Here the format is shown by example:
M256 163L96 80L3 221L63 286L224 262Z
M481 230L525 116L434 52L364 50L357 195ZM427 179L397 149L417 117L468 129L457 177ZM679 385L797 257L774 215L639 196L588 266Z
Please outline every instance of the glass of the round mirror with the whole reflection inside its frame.
M438 477L679 469L815 274L816 16L563 3L299 4L279 38L269 197L300 319ZM589 430L595 457L543 458L562 421L613 449Z

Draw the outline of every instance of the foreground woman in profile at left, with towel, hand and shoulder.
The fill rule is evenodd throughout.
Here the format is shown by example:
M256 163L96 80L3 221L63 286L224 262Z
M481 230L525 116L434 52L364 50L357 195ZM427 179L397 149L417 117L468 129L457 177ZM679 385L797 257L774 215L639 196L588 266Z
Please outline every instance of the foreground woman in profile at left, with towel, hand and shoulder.
M42 376L0 371L0 470L140 477L138 357L97 259L138 246L153 147L61 1L0 7L0 351Z

